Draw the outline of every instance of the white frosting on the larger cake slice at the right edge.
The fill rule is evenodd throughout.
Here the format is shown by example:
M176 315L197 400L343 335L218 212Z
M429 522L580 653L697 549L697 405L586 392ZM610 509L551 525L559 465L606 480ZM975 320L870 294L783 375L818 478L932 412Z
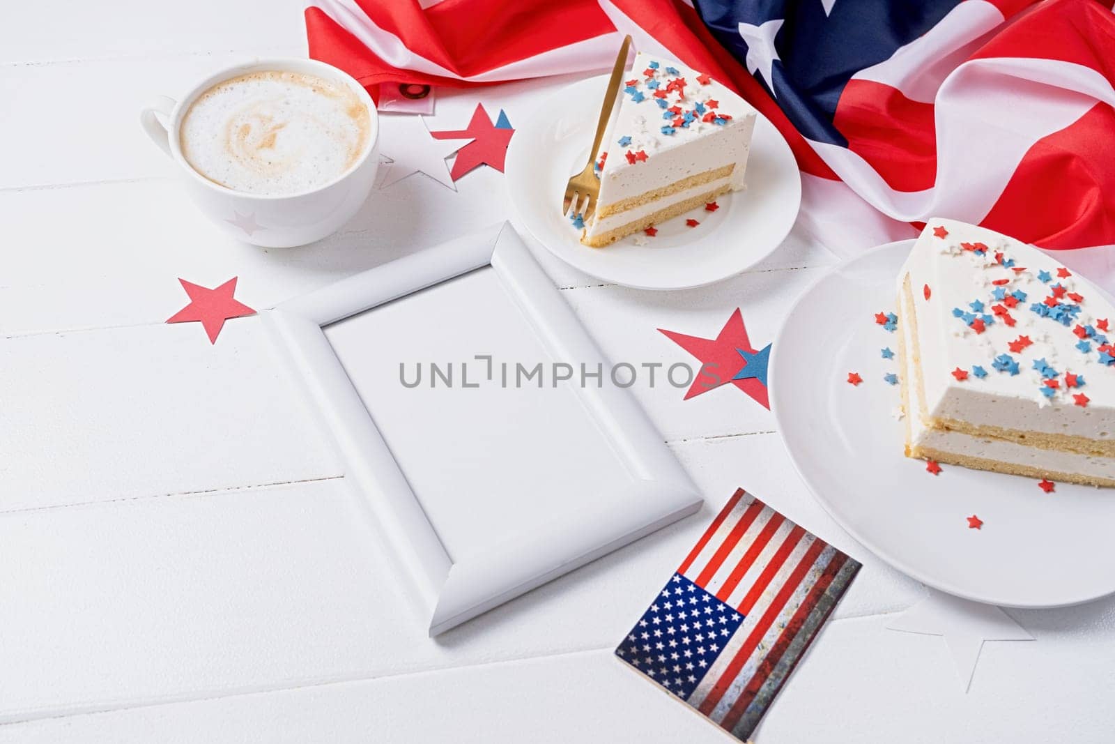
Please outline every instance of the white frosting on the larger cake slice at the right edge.
M938 238L934 231L943 228L948 235ZM985 255L964 250L962 243L987 247ZM1026 268L1016 272L1014 268L1005 268L996 260L996 253L1002 253L1004 261L1014 261L1014 268ZM1051 255L982 228L972 226L952 220L930 220L925 230L918 239L910 258L899 273L898 288L901 297L902 282L910 276L913 294L914 312L917 315L918 349L920 351L921 378L925 396L927 415L930 418L950 418L973 425L998 426L1008 429L1043 432L1082 436L1102 442L1115 438L1115 366L1107 367L1098 361L1101 339L1085 339L1090 349L1085 352L1076 347L1082 340L1074 334L1079 326L1092 326L1098 336L1111 336L1096 327L1099 319L1109 319L1115 328L1115 308L1104 299L1099 291L1085 279L1075 274L1059 277L1058 270L1067 271ZM1041 281L1039 272L1048 272L1050 279ZM1072 272L1069 272L1072 273ZM1015 307L1007 307L1001 300L996 300L995 280L1009 280L1002 284L1002 292L1015 291L1026 293L1026 299ZM1069 306L1078 305L1080 310L1068 326L1064 326L1050 317L1043 317L1034 311L1031 306L1043 303L1054 293L1054 286L1060 283L1066 292L1060 302ZM930 288L930 298L924 297L924 287ZM1075 302L1069 293L1083 296ZM982 311L973 310L972 302L982 302ZM1002 306L1015 320L1010 327L1006 317L996 315L993 307ZM963 318L953 316L953 308L979 316L989 316L993 322L982 332L977 332ZM903 311L906 308L903 306ZM910 326L908 321L904 323ZM905 332L905 330L903 330ZM1021 336L1027 336L1031 345L1019 351L1011 351L1009 342ZM906 350L912 355L913 347L908 339ZM1009 355L1018 364L1019 371L1011 375L1000 371L993 363L999 355ZM1046 364L1057 371L1059 387L1054 389L1053 397L1043 395L1045 377L1035 369L1035 360L1045 359ZM973 366L979 365L987 376L978 378ZM952 370L957 367L969 373L964 380L957 380ZM1066 373L1084 377L1084 385L1078 388L1066 386ZM913 377L908 376L912 383ZM1076 404L1074 395L1084 394L1088 402L1086 406ZM917 414L918 400L911 395L911 406ZM920 429L920 416L911 417L915 431ZM956 436L943 433L925 433L927 439L943 436ZM957 438L957 442L963 439ZM915 442L918 439L915 438ZM927 444L927 442L921 442ZM971 446L983 441L968 443ZM995 451L1018 448L1016 456L1025 456L1027 462L1039 455L1031 453L1031 447L992 443ZM986 444L991 447L991 444ZM978 452L962 450L964 454L980 456ZM1053 454L1059 453L1050 453ZM1040 455L1045 456L1045 455ZM1064 455L1068 457L1069 455ZM1082 456L1083 457L1083 456ZM993 457L998 458L998 457ZM1059 461L1058 461L1059 462ZM1047 465L1050 468L1053 464ZM1066 467L1059 467L1066 470ZM1076 467L1067 467L1070 472L1085 472Z

